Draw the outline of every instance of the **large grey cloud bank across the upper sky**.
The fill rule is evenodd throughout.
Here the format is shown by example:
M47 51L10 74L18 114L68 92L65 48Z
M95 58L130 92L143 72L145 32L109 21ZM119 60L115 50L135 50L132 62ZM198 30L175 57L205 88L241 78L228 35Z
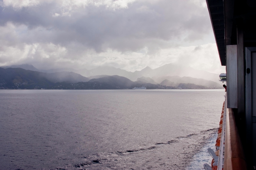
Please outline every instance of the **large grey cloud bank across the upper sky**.
M170 41L196 41L211 31L207 8L200 1L135 1L116 10L89 5L63 16L65 10L56 2L19 9L2 6L0 24L26 26L16 35L16 43L51 42L66 48L79 44L80 50L98 52L165 48ZM55 13L60 15L54 17Z

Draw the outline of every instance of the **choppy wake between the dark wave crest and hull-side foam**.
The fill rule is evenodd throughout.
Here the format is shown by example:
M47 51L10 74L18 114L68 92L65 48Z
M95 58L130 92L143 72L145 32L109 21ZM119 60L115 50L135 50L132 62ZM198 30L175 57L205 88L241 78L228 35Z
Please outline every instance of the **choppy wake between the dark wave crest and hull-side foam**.
M84 162L61 169L186 169L218 128L208 129L150 147L98 153L83 157ZM60 168L56 168L60 169Z

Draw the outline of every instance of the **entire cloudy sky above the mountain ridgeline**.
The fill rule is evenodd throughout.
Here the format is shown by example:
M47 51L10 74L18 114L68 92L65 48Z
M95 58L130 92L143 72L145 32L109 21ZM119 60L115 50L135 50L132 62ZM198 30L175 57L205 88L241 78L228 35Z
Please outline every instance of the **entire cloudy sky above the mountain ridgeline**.
M0 0L0 66L221 66L205 0Z

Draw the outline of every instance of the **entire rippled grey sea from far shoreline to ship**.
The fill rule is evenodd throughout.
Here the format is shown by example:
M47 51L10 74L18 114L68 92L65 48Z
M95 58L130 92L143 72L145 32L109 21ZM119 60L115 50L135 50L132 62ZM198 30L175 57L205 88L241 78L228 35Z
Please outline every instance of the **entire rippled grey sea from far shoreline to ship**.
M192 163L217 133L224 95L0 90L0 169L202 169Z

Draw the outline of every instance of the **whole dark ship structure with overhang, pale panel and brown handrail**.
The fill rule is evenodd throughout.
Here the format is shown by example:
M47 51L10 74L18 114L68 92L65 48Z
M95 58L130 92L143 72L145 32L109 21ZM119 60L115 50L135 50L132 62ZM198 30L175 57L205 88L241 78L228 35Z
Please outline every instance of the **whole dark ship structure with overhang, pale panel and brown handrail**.
M206 3L220 63L226 66L227 93L216 141L220 146L218 152L208 151L213 161L204 168L256 169L256 1Z

